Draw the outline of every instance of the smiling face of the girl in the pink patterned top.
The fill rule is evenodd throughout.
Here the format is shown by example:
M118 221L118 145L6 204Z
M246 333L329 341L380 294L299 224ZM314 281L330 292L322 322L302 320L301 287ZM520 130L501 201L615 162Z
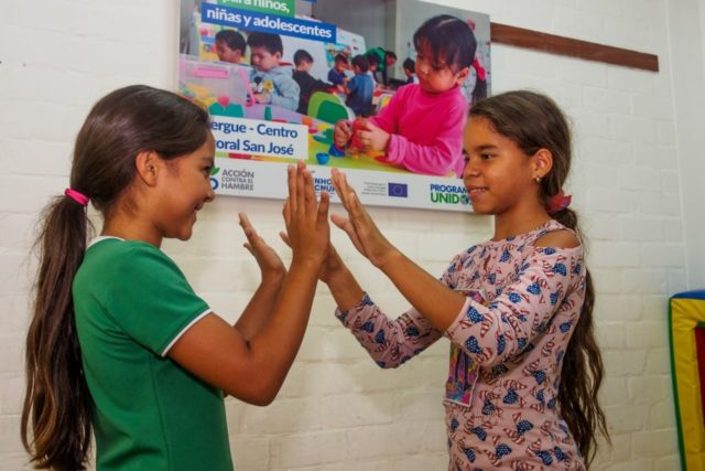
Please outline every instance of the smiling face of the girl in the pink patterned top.
M534 157L482 117L468 120L463 141L467 157L463 181L476 213L501 215L539 204Z

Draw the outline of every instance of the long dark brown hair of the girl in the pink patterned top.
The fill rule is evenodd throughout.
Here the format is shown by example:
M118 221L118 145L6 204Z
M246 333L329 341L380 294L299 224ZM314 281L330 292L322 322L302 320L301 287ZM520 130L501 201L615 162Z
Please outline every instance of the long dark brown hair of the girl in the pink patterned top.
M528 90L507 92L478 101L470 117L482 117L500 135L511 139L527 156L539 149L553 154L553 168L541 180L546 203L557 194L571 168L571 130L561 108L549 97ZM551 215L581 236L577 214L566 207ZM603 357L595 339L593 307L595 289L586 270L585 301L563 357L558 405L571 433L588 465L597 450L597 431L609 440L605 413L597 393L603 383Z

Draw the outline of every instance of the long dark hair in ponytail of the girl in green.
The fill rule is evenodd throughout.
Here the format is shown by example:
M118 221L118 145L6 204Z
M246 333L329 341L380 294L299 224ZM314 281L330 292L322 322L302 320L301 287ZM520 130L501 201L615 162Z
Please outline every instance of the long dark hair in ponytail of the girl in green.
M134 85L100 99L76 138L70 189L104 217L134 178L140 151L162 159L193 152L209 133L208 114L171 92ZM72 283L86 250L86 207L55 197L40 220L39 272L26 336L22 442L34 467L85 469L93 400L83 375Z

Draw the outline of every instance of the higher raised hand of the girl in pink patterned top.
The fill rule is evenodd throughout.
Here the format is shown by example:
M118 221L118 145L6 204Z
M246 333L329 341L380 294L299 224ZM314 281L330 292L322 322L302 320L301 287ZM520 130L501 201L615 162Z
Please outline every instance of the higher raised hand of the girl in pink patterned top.
M358 200L355 190L348 184L345 174L333 168L330 169L330 178L333 188L348 213L348 218L337 214L332 215L333 223L347 233L360 254L376 267L382 268L399 251L379 231L375 221Z

